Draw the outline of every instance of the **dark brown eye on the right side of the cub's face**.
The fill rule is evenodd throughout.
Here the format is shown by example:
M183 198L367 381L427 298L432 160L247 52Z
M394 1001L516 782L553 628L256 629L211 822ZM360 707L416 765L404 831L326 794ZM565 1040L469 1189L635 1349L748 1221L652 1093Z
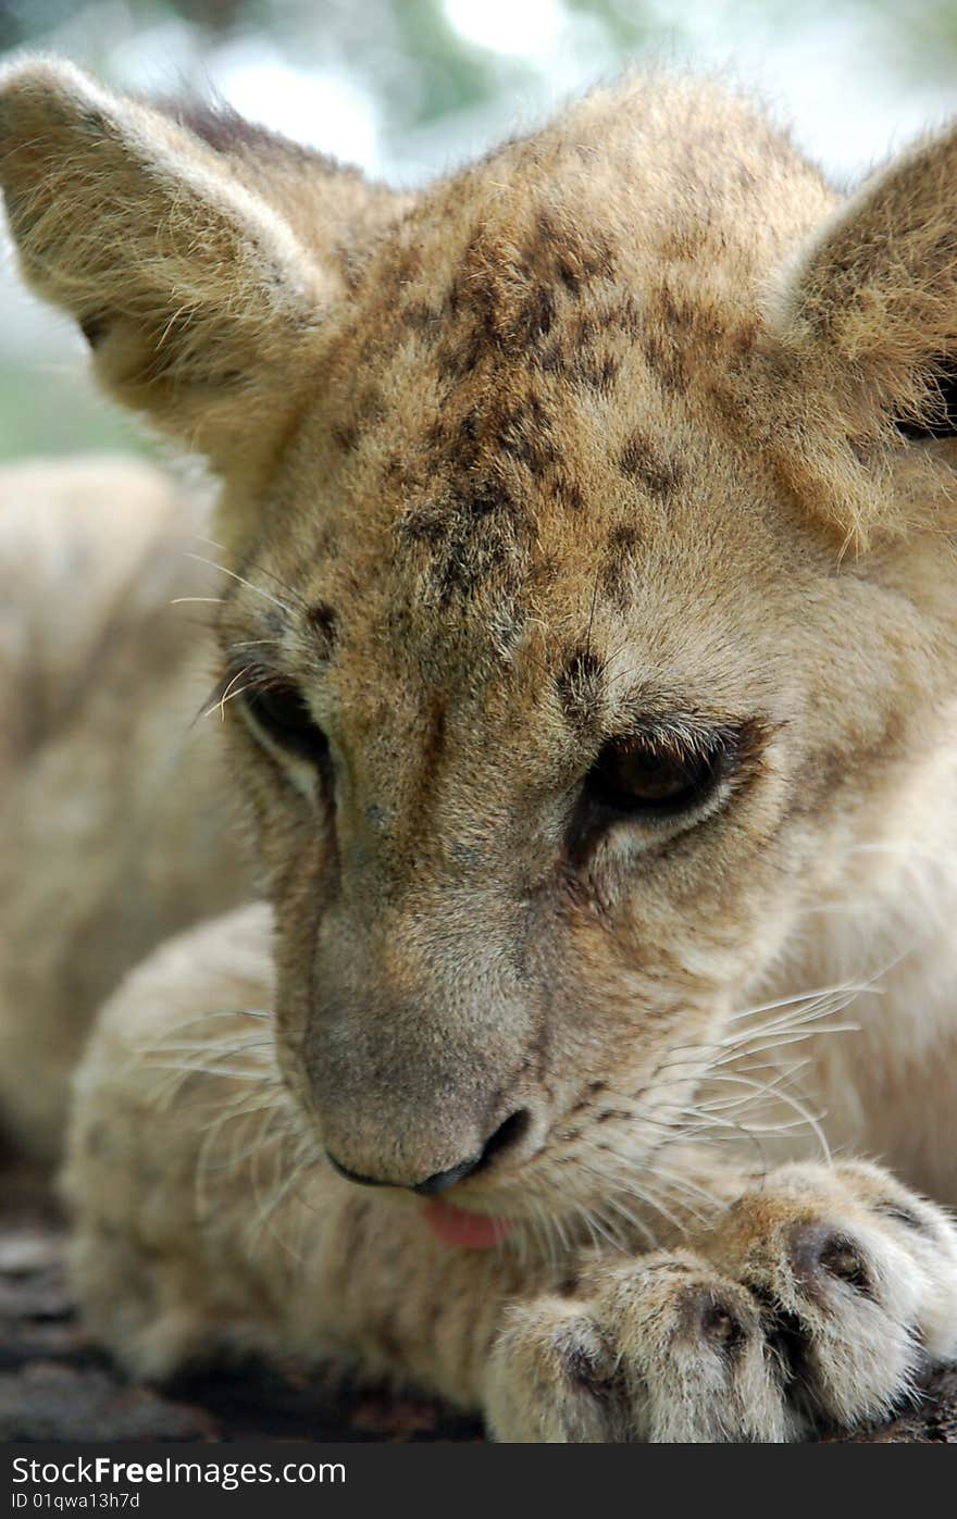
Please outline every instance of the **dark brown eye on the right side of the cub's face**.
M646 737L612 738L585 781L592 802L617 813L673 817L711 794L723 773L725 746L696 750L656 746Z

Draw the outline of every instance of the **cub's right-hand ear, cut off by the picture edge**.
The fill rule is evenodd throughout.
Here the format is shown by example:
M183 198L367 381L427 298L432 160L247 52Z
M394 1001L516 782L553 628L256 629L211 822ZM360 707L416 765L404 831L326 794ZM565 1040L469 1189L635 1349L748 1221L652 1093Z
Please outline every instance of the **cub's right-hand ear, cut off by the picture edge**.
M908 468L933 491L933 454L916 456L957 437L957 126L875 173L817 231L779 283L772 325L791 437L813 450L840 433L855 462L881 468L913 451ZM817 472L846 538L866 545L905 526L892 519L893 492L875 492L873 477L854 489L832 463Z

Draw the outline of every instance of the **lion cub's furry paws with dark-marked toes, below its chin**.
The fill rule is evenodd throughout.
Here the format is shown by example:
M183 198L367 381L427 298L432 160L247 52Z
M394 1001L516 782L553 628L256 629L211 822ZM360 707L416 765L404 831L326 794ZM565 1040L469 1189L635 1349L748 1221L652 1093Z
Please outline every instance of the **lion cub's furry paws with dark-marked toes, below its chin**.
M513 1306L486 1413L500 1440L798 1440L955 1355L948 1215L878 1167L790 1165L690 1249Z

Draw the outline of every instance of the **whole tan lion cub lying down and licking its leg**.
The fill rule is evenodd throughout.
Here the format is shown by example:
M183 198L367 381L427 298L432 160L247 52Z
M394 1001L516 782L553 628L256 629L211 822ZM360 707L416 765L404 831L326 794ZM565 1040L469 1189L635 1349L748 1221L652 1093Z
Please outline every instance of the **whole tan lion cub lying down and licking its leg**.
M91 1331L503 1440L892 1408L957 1350L957 132L842 201L636 79L400 196L27 61L0 166L26 279L222 480L216 638L169 655L146 482L68 526L8 478L0 524L88 535L8 553L8 731L53 696L0 993L49 1150L58 1027L120 983L67 1144ZM93 921L137 927L77 1003Z

